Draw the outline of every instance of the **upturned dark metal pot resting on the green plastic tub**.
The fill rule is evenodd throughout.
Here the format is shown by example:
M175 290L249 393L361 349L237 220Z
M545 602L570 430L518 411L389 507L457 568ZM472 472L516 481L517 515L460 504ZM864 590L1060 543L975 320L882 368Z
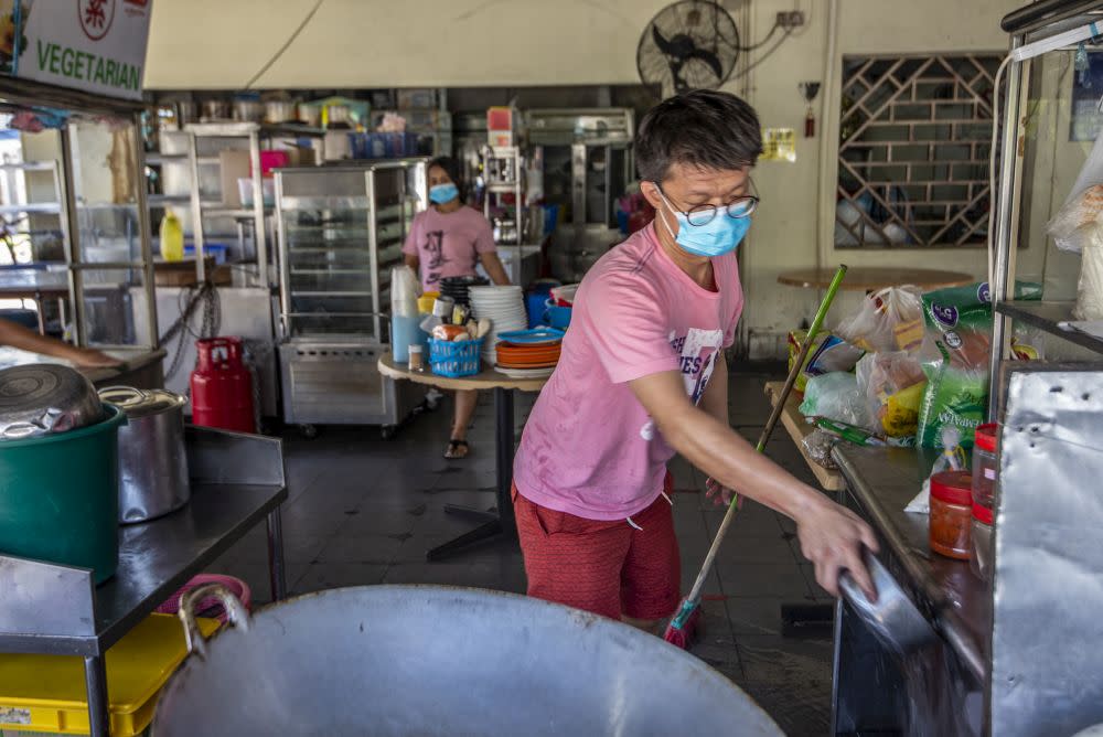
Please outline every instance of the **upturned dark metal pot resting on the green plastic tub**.
M74 368L31 363L0 370L0 439L66 432L103 417L92 382Z

